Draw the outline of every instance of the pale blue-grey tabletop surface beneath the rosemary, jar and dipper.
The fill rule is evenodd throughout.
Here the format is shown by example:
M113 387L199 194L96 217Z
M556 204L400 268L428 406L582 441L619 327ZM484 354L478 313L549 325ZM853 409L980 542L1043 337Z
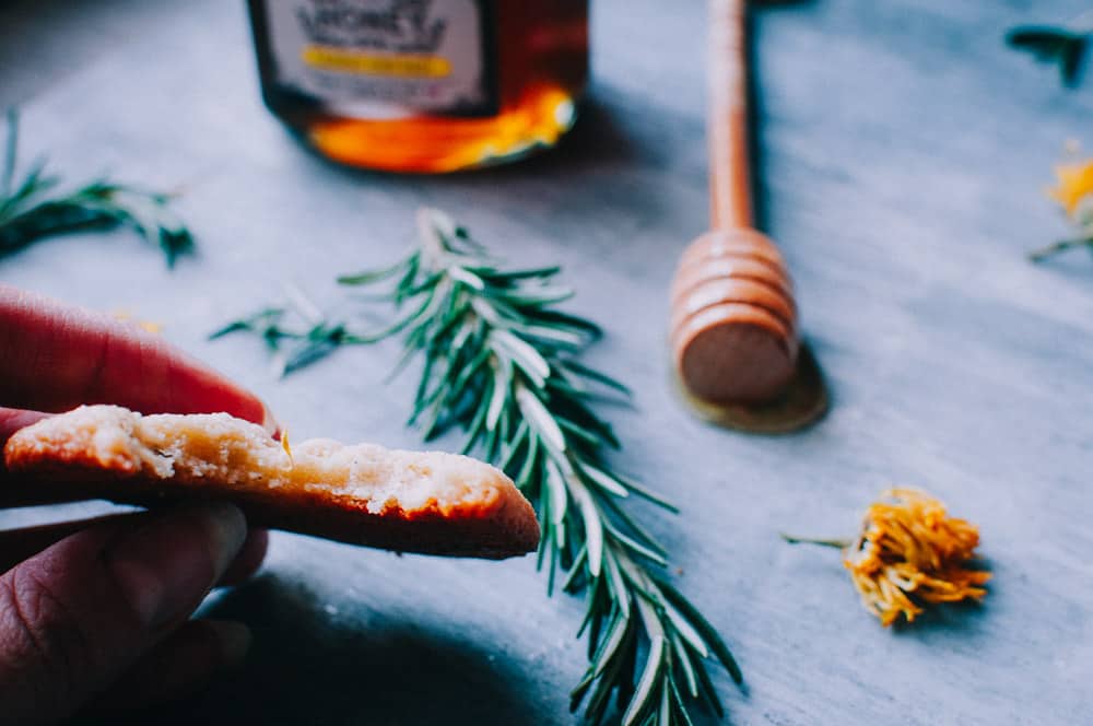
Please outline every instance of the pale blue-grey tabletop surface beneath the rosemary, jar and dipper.
M292 142L260 106L243 3L9 2L0 103L22 105L26 149L48 149L71 178L181 187L201 255L171 273L128 234L73 236L0 261L0 280L164 323L260 391L296 440L412 446L410 377L381 383L392 347L278 382L254 341L205 336L286 281L333 305L331 278L400 254L414 208L450 210L514 260L564 264L572 309L606 324L591 362L638 391L614 414L621 464L683 507L640 514L747 675L748 695L716 677L732 723L1089 723L1093 265L1023 253L1065 232L1042 189L1066 139L1093 144L1093 83L1062 91L1001 44L1014 23L1084 4L816 0L759 14L767 230L835 400L800 435L707 428L668 386L666 289L706 225L695 1L596 2L592 105L573 137L446 178L349 172ZM886 631L834 553L779 542L783 529L853 531L889 482L982 526L996 572L983 607ZM138 721L573 721L581 607L546 599L530 560L283 535L265 574L205 609L251 623L254 657Z

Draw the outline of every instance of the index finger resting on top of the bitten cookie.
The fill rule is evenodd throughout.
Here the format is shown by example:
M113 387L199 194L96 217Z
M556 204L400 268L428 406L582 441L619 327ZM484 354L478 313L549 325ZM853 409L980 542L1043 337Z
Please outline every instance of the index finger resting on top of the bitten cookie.
M0 284L0 405L64 411L226 412L273 431L266 405L158 336Z

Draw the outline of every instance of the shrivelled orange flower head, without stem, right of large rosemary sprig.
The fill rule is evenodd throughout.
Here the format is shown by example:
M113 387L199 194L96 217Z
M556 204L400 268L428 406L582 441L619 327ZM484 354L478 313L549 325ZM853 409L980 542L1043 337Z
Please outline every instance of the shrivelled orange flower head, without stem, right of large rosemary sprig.
M882 625L907 622L922 605L982 599L990 573L964 565L975 557L978 528L950 517L944 505L913 489L892 489L866 513L862 531L844 550L861 600Z

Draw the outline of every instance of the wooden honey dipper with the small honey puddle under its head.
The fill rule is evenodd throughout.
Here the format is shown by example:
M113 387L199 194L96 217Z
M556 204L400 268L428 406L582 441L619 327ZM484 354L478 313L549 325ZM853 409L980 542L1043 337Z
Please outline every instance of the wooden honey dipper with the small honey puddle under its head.
M675 271L671 349L680 383L707 418L788 431L819 418L827 397L815 360L801 354L785 259L754 229L744 13L744 0L710 0L713 229L691 243Z

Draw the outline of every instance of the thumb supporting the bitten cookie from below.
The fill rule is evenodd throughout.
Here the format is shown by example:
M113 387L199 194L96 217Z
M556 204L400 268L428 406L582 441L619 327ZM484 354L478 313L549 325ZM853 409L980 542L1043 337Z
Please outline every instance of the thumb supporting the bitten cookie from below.
M0 576L0 724L48 723L183 623L239 551L227 504L93 527Z

